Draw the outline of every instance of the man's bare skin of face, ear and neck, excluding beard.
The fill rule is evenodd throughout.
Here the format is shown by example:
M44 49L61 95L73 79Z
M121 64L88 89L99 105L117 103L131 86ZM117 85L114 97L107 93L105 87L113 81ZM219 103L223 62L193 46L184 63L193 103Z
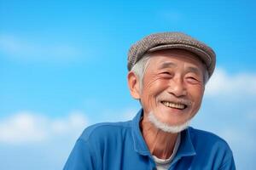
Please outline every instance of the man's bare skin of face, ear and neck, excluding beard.
M155 156L167 158L172 155L177 133L165 133L154 127L148 122L148 113L152 111L160 122L172 126L189 121L201 106L205 66L195 54L181 49L161 50L150 56L141 90L133 72L128 74L128 83L131 95L140 99L143 106L141 128L149 150ZM172 105L164 105L166 102Z

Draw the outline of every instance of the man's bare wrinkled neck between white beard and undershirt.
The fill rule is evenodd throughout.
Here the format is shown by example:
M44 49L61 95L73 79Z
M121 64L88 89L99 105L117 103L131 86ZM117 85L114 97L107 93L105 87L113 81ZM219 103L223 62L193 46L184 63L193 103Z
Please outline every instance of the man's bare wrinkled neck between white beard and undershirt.
M143 138L148 145L151 154L160 158L167 159L172 155L174 145L177 140L177 133L166 133L143 117L140 123Z

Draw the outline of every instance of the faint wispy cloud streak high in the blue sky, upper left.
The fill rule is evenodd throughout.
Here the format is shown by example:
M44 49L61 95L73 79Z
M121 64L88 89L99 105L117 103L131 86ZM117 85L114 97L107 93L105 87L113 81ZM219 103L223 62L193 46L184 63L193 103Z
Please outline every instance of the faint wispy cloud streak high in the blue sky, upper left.
M24 38L0 35L0 52L15 59L29 60L70 60L80 54L78 48L68 44L33 42Z

